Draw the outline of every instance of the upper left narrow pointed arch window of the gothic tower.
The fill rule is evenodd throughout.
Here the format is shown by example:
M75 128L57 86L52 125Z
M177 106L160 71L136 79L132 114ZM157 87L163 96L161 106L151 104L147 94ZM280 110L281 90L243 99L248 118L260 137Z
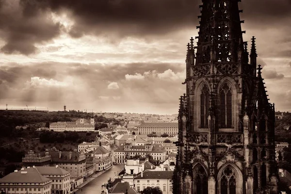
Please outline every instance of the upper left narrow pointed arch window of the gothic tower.
M209 87L204 84L200 94L200 128L208 128L208 112L210 106Z

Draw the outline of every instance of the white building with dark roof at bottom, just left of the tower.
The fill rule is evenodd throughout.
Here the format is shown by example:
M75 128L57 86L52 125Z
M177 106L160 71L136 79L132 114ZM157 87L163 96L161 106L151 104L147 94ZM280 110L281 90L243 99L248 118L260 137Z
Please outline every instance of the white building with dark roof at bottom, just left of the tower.
M138 192L146 187L160 187L163 194L172 194L173 171L143 171L134 178L134 185Z

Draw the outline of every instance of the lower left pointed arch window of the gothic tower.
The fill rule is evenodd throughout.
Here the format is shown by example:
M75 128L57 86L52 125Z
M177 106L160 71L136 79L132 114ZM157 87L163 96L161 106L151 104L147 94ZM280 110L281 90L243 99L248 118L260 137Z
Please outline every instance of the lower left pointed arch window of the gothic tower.
M208 178L205 169L199 165L194 171L196 194L208 194Z

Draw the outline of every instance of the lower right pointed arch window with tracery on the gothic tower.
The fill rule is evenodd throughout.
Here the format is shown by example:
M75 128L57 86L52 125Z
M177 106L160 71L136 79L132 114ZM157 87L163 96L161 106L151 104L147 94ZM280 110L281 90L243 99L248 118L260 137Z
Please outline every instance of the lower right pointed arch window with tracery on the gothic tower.
M236 194L236 177L233 170L227 167L220 179L221 194Z

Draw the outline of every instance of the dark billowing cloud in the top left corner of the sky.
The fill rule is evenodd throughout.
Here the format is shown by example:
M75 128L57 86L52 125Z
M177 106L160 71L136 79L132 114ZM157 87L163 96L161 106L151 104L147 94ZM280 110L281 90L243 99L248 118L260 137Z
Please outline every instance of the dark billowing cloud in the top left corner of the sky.
M6 44L1 51L29 55L36 43L44 43L60 34L61 25L53 22L47 8L32 1L0 1L0 35Z

